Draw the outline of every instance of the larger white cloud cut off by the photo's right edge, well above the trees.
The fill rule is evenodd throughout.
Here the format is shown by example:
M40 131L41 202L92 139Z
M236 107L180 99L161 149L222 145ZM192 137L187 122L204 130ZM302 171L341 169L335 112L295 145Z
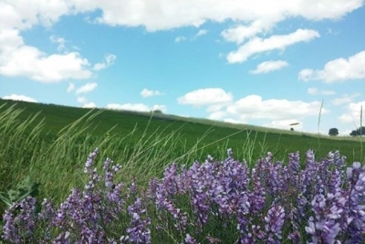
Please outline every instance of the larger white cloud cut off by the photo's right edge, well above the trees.
M365 79L365 51L348 59L337 58L329 61L324 69L302 69L299 80L323 80L326 83L346 80Z

